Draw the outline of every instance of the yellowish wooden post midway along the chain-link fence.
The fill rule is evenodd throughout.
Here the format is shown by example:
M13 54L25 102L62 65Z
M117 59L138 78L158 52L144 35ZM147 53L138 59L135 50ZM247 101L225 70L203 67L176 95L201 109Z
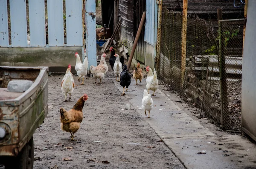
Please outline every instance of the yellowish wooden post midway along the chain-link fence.
M188 0L183 0L182 12L182 41L181 41L181 81L180 89L183 88L184 76L186 70L186 32L187 32L187 14L188 14Z

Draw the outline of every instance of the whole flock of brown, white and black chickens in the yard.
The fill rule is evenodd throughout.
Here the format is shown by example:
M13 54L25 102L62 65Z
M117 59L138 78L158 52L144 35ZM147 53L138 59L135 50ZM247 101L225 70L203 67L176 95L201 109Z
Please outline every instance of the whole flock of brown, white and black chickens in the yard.
M109 63L111 68L116 76L116 81L119 81L120 85L123 87L122 95L125 95L125 87L126 91L128 91L128 87L131 84L131 74L128 72L127 66L124 64L124 57L119 57L118 54L115 53L115 50L111 47L111 56L109 58ZM84 50L84 54L86 53L86 49ZM86 56L86 54L85 54ZM88 68L88 59L84 58L84 62L81 63L80 56L76 52L76 74L78 75L78 80L80 81L83 78L81 85L84 84L84 77L87 75ZM90 71L95 78L95 83L97 83L97 79L101 80L105 77L105 74L108 72L108 65L105 60L106 54L103 53L100 59L100 63L97 66L90 66ZM154 70L154 74L152 69L148 66L146 67L147 79L146 79L146 89L143 92L142 106L141 108L145 111L145 116L147 116L146 111L148 111L148 118L150 118L150 111L153 106L153 100L151 98L150 90L154 92L158 89L158 80L157 80L157 72ZM140 68L140 63L137 63L135 70L133 71L134 80L136 80L136 85L138 85L137 80L140 80L140 83L143 79L143 70ZM61 81L61 91L65 95L65 102L71 99L71 94L75 87L75 81L73 79L73 74L71 73L71 65L68 65L67 71ZM69 99L67 100L67 94L69 94ZM121 95L121 96L122 96ZM84 107L84 102L88 99L88 96L84 94L79 100L76 102L75 106L69 111L61 108L61 129L65 132L70 132L71 140L74 141L74 134L80 128L80 123L83 120L83 112L82 109Z

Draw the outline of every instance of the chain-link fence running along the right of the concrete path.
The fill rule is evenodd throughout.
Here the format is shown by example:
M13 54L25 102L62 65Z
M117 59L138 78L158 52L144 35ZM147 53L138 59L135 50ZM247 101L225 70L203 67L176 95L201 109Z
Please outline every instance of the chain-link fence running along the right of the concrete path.
M159 78L169 84L170 89L178 91L186 102L202 109L208 117L221 124L223 129L236 131L241 125L243 23L240 29L237 26L236 22L226 24L223 21L221 37L220 32L214 32L210 22L197 15L188 15L184 24L181 12L163 8L161 38L157 39L160 43L160 51L157 51ZM221 41L226 39L221 46L220 38ZM220 60L219 47L224 62ZM220 80L223 74L227 79L226 88ZM226 91L221 92L221 89Z

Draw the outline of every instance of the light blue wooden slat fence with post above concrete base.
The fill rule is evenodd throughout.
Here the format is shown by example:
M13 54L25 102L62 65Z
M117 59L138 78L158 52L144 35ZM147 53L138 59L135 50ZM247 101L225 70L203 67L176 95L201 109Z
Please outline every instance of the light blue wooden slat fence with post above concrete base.
M7 0L0 0L0 48L1 47L61 47L81 46L84 59L83 0L65 0L66 35L64 44L63 0L47 0L48 44L46 40L45 0L28 0L29 35L27 39L26 0L9 0L11 43L9 42ZM96 6L86 0L86 46L90 65L96 66Z

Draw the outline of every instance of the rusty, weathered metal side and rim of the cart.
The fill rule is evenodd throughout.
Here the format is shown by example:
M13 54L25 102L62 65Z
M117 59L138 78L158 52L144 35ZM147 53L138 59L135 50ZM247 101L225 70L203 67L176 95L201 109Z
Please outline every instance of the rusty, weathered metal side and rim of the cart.
M26 72L28 70L33 74L32 76ZM35 130L43 123L48 112L48 68L0 67L0 76L6 74L3 77L4 84L5 80L12 79L19 72L23 74L23 78L26 79L27 76L34 83L20 96L11 100L0 100L0 127L7 131L5 139L0 140L0 156L17 156Z

